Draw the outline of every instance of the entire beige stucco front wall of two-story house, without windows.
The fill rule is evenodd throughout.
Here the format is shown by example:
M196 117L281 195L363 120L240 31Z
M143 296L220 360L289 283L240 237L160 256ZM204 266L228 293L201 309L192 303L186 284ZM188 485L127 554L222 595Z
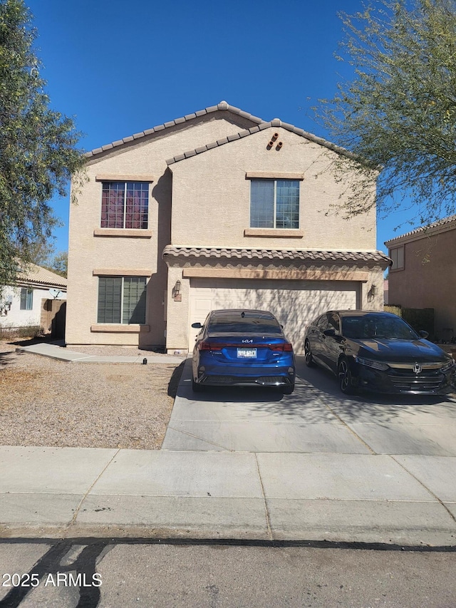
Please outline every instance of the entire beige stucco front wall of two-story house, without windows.
M343 200L343 185L331 176L334 153L284 128L266 128L167 167L167 158L252 126L244 118L239 118L236 124L231 120L232 116L217 113L209 120L176 125L118 150L106 150L89 161L88 182L78 195L78 205L71 205L67 344L166 344L168 352L187 351L192 337L189 333L192 279L185 269L198 269L205 264L212 272L211 269L217 267L218 274L214 278L223 279L224 269L228 269L229 277L232 277L237 264L227 260L189 262L185 259L167 267L161 258L167 244L247 249L375 250L375 211L348 221L343 220L343 214L333 210L332 205L337 207ZM267 144L274 133L282 143L280 150L268 149ZM258 175L274 175L276 179L281 175L284 179L295 179L288 177L290 175L302 177L299 180L299 229L250 229L250 180ZM135 176L138 181L150 180L147 230L135 230L129 235L122 229L101 230L103 180L136 181ZM252 269L273 272L265 279L269 296L283 285L284 270L308 270L319 273L314 275L316 282L312 285L312 277L309 279L303 274L294 277L293 286L301 284L303 291L309 293L314 289L314 297L316 294L321 297L325 290L326 293L332 291L327 285L322 286L321 281L334 282L331 283L334 292L341 286L341 293L354 294L354 299L344 296L343 303L356 302L357 308L365 309L382 307L383 269L380 267L363 267L362 264L333 267L331 263L315 268L309 264L290 267L277 263L268 267L255 262L249 265L245 261L238 266L249 272ZM279 274L274 275L276 271ZM356 277L353 272L358 273ZM98 324L98 283L99 277L105 276L147 277L144 325ZM179 294L175 290L177 281L180 282ZM375 297L369 291L373 285ZM288 287L286 285L286 294L296 290ZM249 291L256 292L255 282ZM239 294L237 292L237 302L244 298ZM259 299L260 294L254 297ZM331 296L331 306L336 307L337 303L337 297ZM312 319L307 307L300 322L304 326Z

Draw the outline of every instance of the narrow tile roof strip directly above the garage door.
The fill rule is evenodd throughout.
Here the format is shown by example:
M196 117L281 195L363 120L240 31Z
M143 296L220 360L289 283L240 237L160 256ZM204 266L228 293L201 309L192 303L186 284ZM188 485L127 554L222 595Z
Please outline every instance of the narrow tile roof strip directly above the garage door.
M232 247L177 247L167 245L162 257L283 259L301 262L386 262L390 258L380 251L323 251L319 249L247 249Z

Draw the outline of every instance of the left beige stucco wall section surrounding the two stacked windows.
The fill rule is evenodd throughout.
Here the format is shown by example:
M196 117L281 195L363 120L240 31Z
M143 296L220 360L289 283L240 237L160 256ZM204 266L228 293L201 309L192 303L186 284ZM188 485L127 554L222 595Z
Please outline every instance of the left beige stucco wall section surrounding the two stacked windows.
M87 165L88 182L70 209L68 251L67 344L165 343L164 292L167 268L161 259L163 247L170 243L172 175L166 160L192 148L237 133L252 123L232 115L214 113L182 125L141 138L91 158ZM94 236L100 227L102 183L96 175L152 175L149 197L150 238ZM148 269L146 323L150 331L91 331L96 324L98 278L93 269ZM120 328L119 328L120 329Z

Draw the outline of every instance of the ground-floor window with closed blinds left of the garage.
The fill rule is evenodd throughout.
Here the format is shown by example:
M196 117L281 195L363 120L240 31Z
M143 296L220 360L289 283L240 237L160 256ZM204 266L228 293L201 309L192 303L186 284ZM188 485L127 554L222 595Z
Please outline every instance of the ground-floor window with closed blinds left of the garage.
M146 277L99 277L98 323L145 324Z

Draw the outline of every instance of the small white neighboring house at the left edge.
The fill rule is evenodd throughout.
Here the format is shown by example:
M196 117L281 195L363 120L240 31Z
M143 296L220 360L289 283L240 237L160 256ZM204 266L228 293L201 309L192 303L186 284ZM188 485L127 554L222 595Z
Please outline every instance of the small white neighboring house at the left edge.
M0 297L0 327L18 329L40 326L43 301L66 299L67 279L55 272L28 264L16 285L4 287Z

